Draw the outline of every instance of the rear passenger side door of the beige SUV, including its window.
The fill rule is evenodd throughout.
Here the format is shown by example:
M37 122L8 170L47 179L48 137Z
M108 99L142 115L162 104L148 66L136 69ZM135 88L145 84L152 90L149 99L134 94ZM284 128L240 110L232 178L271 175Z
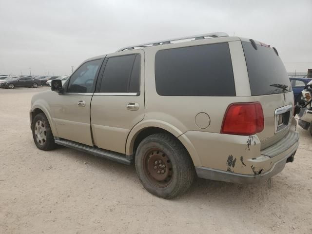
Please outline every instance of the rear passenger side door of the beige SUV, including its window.
M143 119L144 51L107 55L91 103L91 127L96 146L125 154L130 130Z

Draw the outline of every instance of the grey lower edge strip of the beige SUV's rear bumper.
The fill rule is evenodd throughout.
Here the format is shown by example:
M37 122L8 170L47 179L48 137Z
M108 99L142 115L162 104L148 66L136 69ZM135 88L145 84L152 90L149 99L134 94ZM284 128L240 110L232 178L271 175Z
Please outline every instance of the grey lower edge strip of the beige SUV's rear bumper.
M260 173L257 175L244 175L244 174L225 172L225 171L216 170L216 169L207 168L207 167L195 167L195 170L196 170L197 176L200 178L204 178L204 179L212 179L212 180L219 180L219 181L239 183L239 184L257 183L261 180L271 178L272 176L275 176L276 174L283 171L285 164L288 161L293 160L293 156L295 155L298 146L299 146L299 142L296 142L292 146L292 150L290 153L288 153L286 156L284 156L280 160L276 161L269 171L262 173L262 174Z

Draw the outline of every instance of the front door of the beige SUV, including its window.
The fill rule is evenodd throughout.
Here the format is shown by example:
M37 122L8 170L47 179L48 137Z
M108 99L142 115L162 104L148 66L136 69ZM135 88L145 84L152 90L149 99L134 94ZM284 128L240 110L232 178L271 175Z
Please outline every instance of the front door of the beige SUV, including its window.
M54 121L60 138L93 146L90 104L103 59L83 63L69 78L64 93L55 100Z

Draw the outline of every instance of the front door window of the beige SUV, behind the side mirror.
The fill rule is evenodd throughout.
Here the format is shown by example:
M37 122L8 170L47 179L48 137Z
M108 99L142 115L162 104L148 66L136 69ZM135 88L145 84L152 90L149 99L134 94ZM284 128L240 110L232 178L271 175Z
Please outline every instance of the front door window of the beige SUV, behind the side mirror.
M93 93L101 59L82 64L70 77L67 93Z

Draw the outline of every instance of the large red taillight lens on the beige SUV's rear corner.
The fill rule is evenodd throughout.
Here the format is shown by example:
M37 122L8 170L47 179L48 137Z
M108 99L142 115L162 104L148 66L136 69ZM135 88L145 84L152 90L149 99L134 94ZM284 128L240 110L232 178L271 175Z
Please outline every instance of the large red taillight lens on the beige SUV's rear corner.
M233 103L225 112L221 133L246 136L260 133L263 128L260 102Z

